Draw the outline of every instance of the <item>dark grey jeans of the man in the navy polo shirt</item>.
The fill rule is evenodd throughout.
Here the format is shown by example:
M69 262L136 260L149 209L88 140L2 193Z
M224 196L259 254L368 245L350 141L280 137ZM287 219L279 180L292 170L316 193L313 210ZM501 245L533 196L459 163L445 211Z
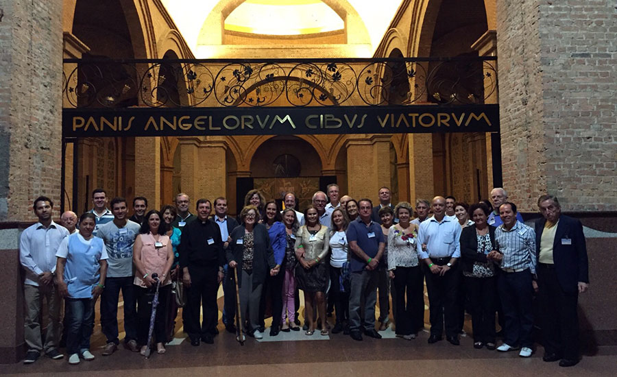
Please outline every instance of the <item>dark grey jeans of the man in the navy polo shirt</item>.
M349 330L360 331L360 305L364 299L364 330L375 328L375 304L377 304L377 282L379 271L364 269L351 273L349 295Z

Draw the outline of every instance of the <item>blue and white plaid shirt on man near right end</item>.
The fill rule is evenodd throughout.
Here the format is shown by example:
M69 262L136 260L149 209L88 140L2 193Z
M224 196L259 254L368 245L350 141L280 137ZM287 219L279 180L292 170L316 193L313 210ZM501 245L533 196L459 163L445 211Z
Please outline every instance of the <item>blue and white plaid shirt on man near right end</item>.
M495 230L496 248L503 253L501 268L531 269L535 275L535 231L516 221L511 230L503 225Z

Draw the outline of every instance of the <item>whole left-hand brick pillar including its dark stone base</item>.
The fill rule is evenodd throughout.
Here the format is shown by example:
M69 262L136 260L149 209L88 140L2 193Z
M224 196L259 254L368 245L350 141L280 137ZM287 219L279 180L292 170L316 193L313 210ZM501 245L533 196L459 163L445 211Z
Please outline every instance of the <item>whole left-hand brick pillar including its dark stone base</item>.
M0 363L23 358L19 234L46 195L60 208L62 1L0 4Z

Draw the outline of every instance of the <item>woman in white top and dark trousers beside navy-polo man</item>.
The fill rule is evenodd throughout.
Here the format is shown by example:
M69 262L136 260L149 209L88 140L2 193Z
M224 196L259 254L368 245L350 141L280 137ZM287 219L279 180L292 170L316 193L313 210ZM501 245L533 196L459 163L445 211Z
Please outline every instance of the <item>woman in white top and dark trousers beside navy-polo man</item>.
M349 292L342 284L343 263L348 261L349 243L345 232L349 221L341 208L332 211L330 224L330 297L336 311L336 323L332 334L343 331L349 315Z

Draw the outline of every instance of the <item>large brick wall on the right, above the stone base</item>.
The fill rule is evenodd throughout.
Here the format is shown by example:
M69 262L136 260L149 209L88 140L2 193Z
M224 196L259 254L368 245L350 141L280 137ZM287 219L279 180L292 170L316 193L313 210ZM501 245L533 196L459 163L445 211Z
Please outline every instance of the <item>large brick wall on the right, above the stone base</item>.
M617 25L610 1L497 1L503 178L521 210L617 210Z

